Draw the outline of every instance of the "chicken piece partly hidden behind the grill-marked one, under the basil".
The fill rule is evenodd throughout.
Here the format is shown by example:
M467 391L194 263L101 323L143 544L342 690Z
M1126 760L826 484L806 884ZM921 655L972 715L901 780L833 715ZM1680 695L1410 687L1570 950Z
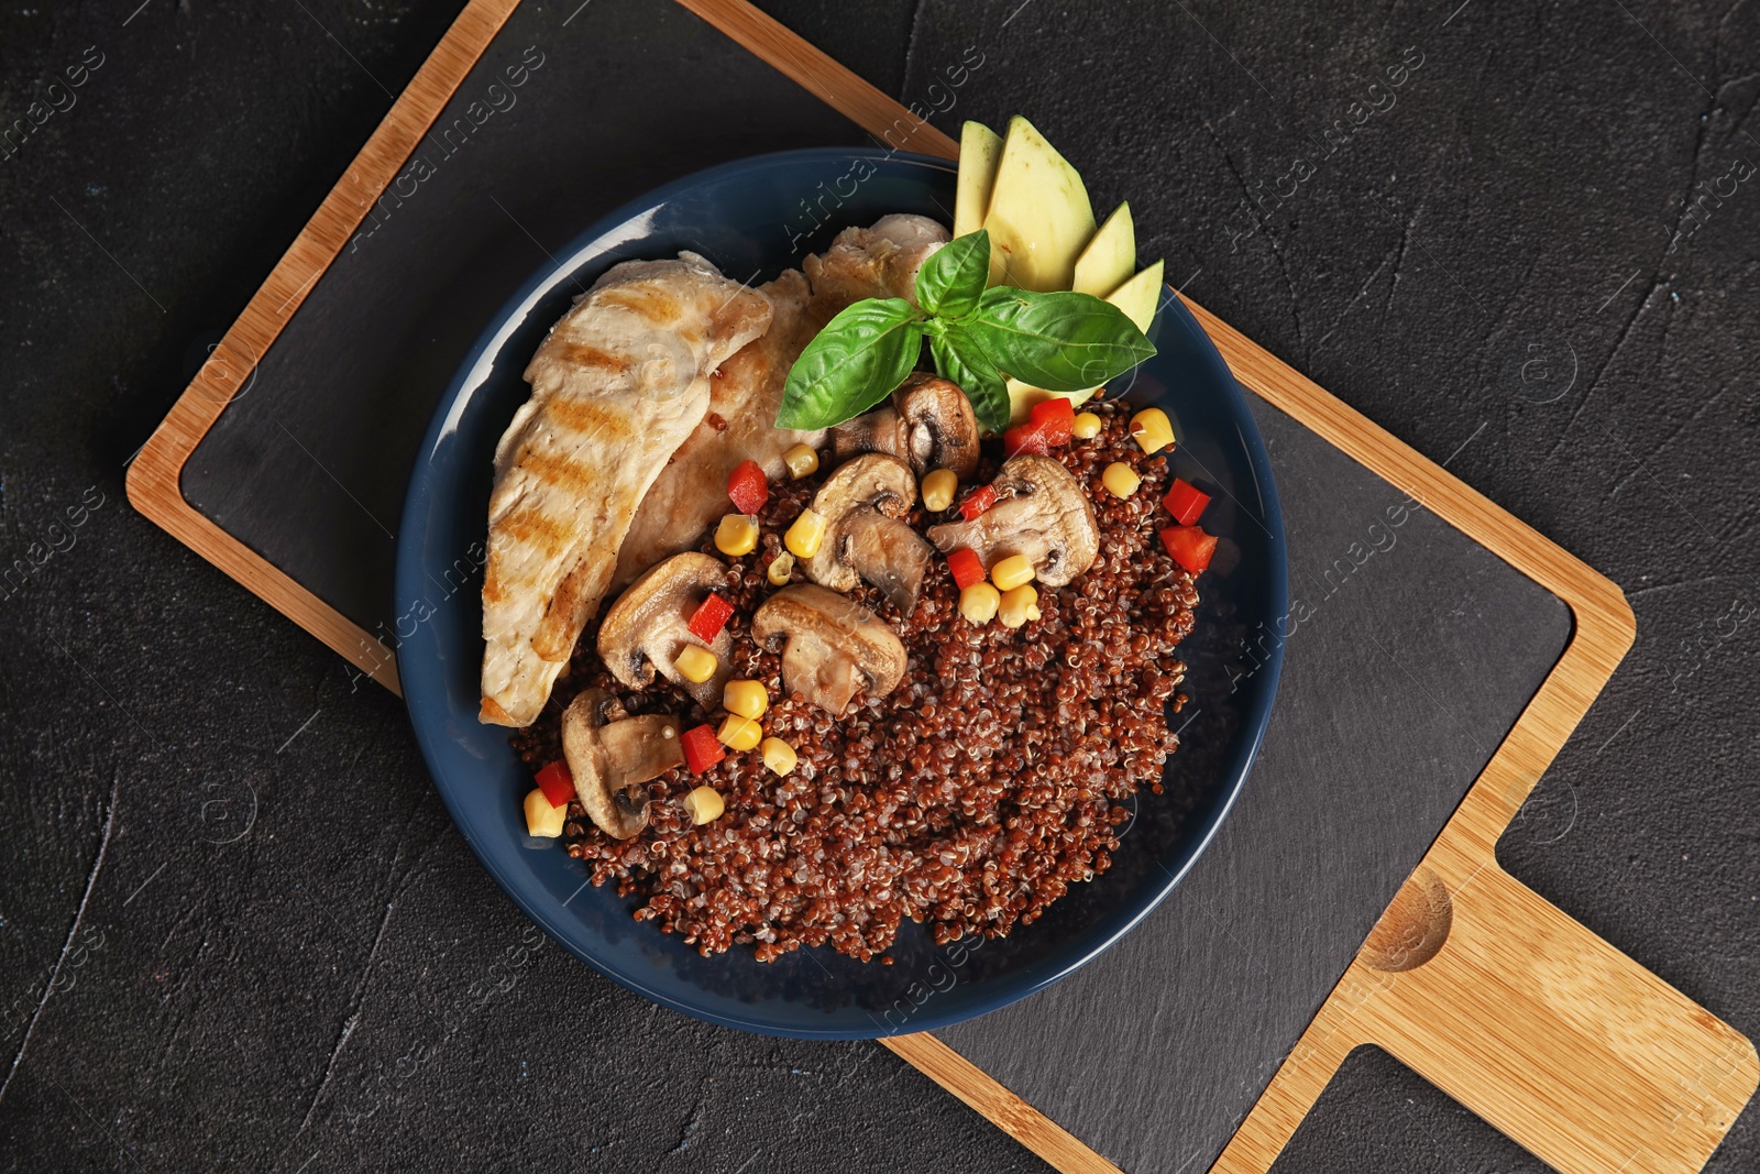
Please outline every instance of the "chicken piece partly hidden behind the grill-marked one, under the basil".
M634 581L662 558L695 549L732 507L727 475L757 461L764 475L787 475L781 454L797 444L820 447L825 431L776 428L781 389L794 361L840 310L862 297L917 299L917 269L947 243L947 229L928 216L882 216L871 229L845 229L806 273L785 269L760 290L773 317L764 334L722 364L709 380L709 410L655 481L618 556L616 583Z

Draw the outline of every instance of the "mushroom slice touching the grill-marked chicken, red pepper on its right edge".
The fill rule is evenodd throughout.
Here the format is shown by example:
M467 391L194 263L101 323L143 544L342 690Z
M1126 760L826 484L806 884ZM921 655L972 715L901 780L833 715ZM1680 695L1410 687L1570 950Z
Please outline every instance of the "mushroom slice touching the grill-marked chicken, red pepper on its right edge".
M686 551L655 563L632 583L598 625L598 658L625 688L648 688L655 671L672 681L699 704L713 708L730 676L727 655L734 648L725 628L704 644L690 630L697 605L722 586L727 563ZM686 644L715 653L715 676L700 685L686 681L674 664Z

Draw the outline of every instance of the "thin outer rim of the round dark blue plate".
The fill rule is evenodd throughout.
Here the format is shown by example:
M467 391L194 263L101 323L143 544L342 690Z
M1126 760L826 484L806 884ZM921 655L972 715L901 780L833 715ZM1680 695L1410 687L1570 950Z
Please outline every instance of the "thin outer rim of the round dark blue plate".
M623 204L611 209L609 213L595 218L586 229L570 238L570 241L563 248L556 250L554 253L549 253L546 264L533 269L532 276L521 282L519 287L486 320L484 329L472 343L465 359L459 363L458 370L447 382L445 391L436 401L433 415L429 417L428 428L422 435L422 444L417 451L417 463L410 473L410 484L405 489L403 496L403 512L398 521L398 544L394 560L394 600L405 595L407 584L415 584L424 577L421 569L421 556L424 553L424 546L417 533L417 530L421 528L417 526L417 519L426 519L428 516L426 507L429 503L429 498L433 496L433 488L428 477L428 470L433 466L433 458L440 444L456 428L452 417L461 407L463 393L466 391L466 387L472 387L480 382L479 378L473 377L477 375L477 370L482 364L484 357L491 352L491 349L495 349L500 343L500 336L503 331L509 331L510 327L517 329L517 326L524 320L526 313L530 313L530 306L526 306L526 303L539 297L544 290L547 290L556 282L558 276L572 273L574 269L579 269L583 264L588 264L595 257L609 252L607 248L600 248L593 255L586 255L593 248L593 245L607 238L616 227L628 224L641 213L651 211L669 202L671 199L674 199L683 192L688 192L692 188L697 188L704 183L709 183L727 174L744 172L752 167L780 165L788 162L813 162L813 160L825 160L825 162L875 160L875 162L892 162L892 164L903 162L919 167L928 167L942 174L957 174L957 165L952 160L940 158L935 155L920 155L913 151L898 151L885 148L818 146L818 148L766 151L688 172L664 185L649 188L648 192L634 199L628 199ZM1283 509L1278 498L1276 477L1272 475L1271 470L1271 456L1269 451L1265 449L1264 435L1260 433L1257 421L1253 421L1244 389L1241 387L1239 380L1236 380L1234 371L1228 368L1227 361L1221 357L1221 352L1216 349L1214 340L1209 338L1209 334L1204 331L1202 324L1197 320L1192 310L1186 308L1177 290L1172 290L1172 287L1169 287L1165 282L1163 282L1163 290L1170 290L1170 296L1162 303L1162 306L1156 312L1156 317L1163 319L1165 313L1174 312L1179 319L1181 327L1186 329L1195 340L1200 340L1202 345L1197 347L1199 361L1204 366L1211 368L1211 373L1216 377L1218 384L1225 389L1225 394L1230 400L1230 408L1232 408L1230 414L1250 424L1250 428L1237 428L1237 433L1241 438L1243 451L1248 458L1248 468L1253 473L1255 489L1258 493L1258 502L1262 507L1262 516L1257 521L1265 528L1267 535L1271 537L1271 542L1267 544L1267 554L1271 563L1267 569L1269 576L1267 590L1271 591L1269 611L1272 614L1287 614L1288 540L1283 525ZM1163 329L1165 329L1165 319L1163 319ZM1243 512L1246 512L1244 505ZM996 991L993 998L979 1000L977 1005L942 1014L929 1014L928 1009L924 1009L919 1016L906 1019L898 1028L880 1026L878 1019L868 1016L869 1021L876 1024L876 1030L866 1030L866 1028L845 1030L831 1026L790 1026L790 1024L778 1024L760 1017L744 1019L739 1016L729 1016L723 1012L708 1010L704 1007L697 1007L688 1002L678 1000L671 994L665 994L662 991L651 989L649 986L641 982L639 977L627 973L607 961L590 956L581 945L570 940L567 928L556 917L553 917L551 910L553 901L549 901L547 898L532 899L532 894L524 892L523 885L517 884L514 877L507 875L498 866L496 859L486 850L486 845L479 845L477 838L470 833L466 820L461 817L459 808L454 804L449 789L440 783L444 771L438 767L435 753L429 748L431 739L424 736L422 730L428 722L435 720L436 715L445 715L445 709L442 704L436 706L435 713L426 711L428 699L422 697L426 678L421 672L412 672L415 665L407 664L407 655L410 655L407 649L410 649L412 646L414 646L412 641L403 641L396 648L398 676L403 683L405 709L408 711L410 716L412 732L415 734L415 743L417 748L421 750L422 764L428 767L429 783L440 794L440 801L445 806L447 815L452 820L452 825L458 829L459 838L463 838L465 843L470 847L472 855L477 857L477 862L484 868L484 871L489 873L496 887L526 917L530 917L540 929L544 929L546 935L549 935L568 954L591 966L597 973L611 979L618 986L653 1003L686 1014L699 1021L715 1023L718 1026L729 1026L743 1031L771 1035L780 1038L820 1038L820 1040L887 1038L919 1031L933 1031L938 1028L952 1026L956 1023L975 1019L979 1016L1016 1003L1023 998L1028 998L1030 994L1045 989L1047 986L1060 982L1061 979L1081 970L1095 958L1104 954L1107 949L1116 945L1125 935L1128 935L1132 929L1142 924L1142 921L1149 914L1153 914L1169 898L1169 894L1172 894L1174 889L1179 887L1179 884L1186 878L1186 875L1190 875L1192 868L1206 854L1211 843L1214 843L1216 834L1221 831L1221 825L1227 822L1236 803L1239 801L1241 792L1246 787L1246 780L1251 774L1253 764L1258 759L1258 752L1265 737L1265 729L1269 727L1271 715L1276 708L1278 685L1283 671L1283 642L1276 642L1276 646L1265 658L1264 665L1260 665L1260 669L1255 671L1255 676L1264 679L1262 686L1264 702L1258 704L1257 709L1253 709L1248 715L1248 718L1243 722L1243 727L1236 734L1236 737L1241 739L1244 746L1244 755L1241 759L1239 771L1232 780L1227 780L1225 790L1220 794L1220 801L1213 801L1213 811L1207 815L1207 825L1204 827L1202 834L1197 836L1195 843L1190 847L1179 866L1169 869L1165 862L1158 861L1162 871L1167 873L1167 880L1165 884L1158 885L1153 898L1144 901L1140 908L1137 908L1119 924L1112 926L1111 931L1104 933L1100 940L1096 940L1088 949L1079 950L1072 958L1061 959L1056 966L1049 966L1044 972L1035 973L1028 970L1024 972L1024 977L1017 979L1016 982L1003 982L1003 987ZM440 697L444 699L444 690ZM586 882L588 880L583 877L583 887ZM567 905L567 901L563 905ZM1001 979L991 979L991 982L1000 982L1000 980Z

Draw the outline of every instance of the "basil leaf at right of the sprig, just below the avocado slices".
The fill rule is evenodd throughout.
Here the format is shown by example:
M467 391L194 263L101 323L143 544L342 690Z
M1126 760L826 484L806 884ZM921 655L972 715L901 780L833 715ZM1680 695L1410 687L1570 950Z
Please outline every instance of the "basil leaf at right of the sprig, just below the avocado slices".
M1109 301L998 285L966 326L991 363L1045 391L1086 391L1155 354L1155 343Z

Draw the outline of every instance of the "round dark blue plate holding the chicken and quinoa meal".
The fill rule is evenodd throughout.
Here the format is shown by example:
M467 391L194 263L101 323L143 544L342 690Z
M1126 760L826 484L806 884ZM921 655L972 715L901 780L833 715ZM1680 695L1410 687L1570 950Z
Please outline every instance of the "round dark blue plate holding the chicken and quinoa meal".
M843 227L892 211L945 224L952 202L954 169L943 160L811 150L715 167L627 204L489 324L440 401L410 481L398 539L398 671L447 810L546 933L628 989L699 1019L771 1035L880 1037L970 1019L1056 982L1142 921L1192 868L1239 794L1271 716L1281 642L1258 637L1287 614L1278 493L1241 389L1169 297L1151 329L1160 354L1118 391L1174 417L1174 470L1214 496L1204 526L1221 546L1199 583L1197 630L1181 646L1193 702L1172 720L1183 723L1184 745L1169 759L1167 794L1139 797L1109 871L1000 942L936 947L906 922L892 966L829 949L760 965L744 947L702 958L635 922L630 901L583 884L583 866L558 841L524 834L521 799L532 778L509 730L477 722L480 565L491 454L526 400L519 375L544 333L620 260L690 248L736 280L769 278ZM1257 653L1260 646L1271 651Z

